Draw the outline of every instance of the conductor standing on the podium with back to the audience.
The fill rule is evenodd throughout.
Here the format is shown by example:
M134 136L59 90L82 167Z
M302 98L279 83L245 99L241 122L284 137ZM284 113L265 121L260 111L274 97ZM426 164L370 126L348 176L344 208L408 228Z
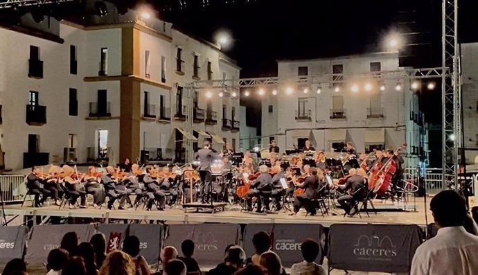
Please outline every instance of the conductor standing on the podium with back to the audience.
M206 204L209 202L211 191L211 162L217 156L217 153L211 149L211 143L204 141L204 147L197 151L196 159L200 161L197 170L199 170L201 183L200 183L200 197L201 203Z

